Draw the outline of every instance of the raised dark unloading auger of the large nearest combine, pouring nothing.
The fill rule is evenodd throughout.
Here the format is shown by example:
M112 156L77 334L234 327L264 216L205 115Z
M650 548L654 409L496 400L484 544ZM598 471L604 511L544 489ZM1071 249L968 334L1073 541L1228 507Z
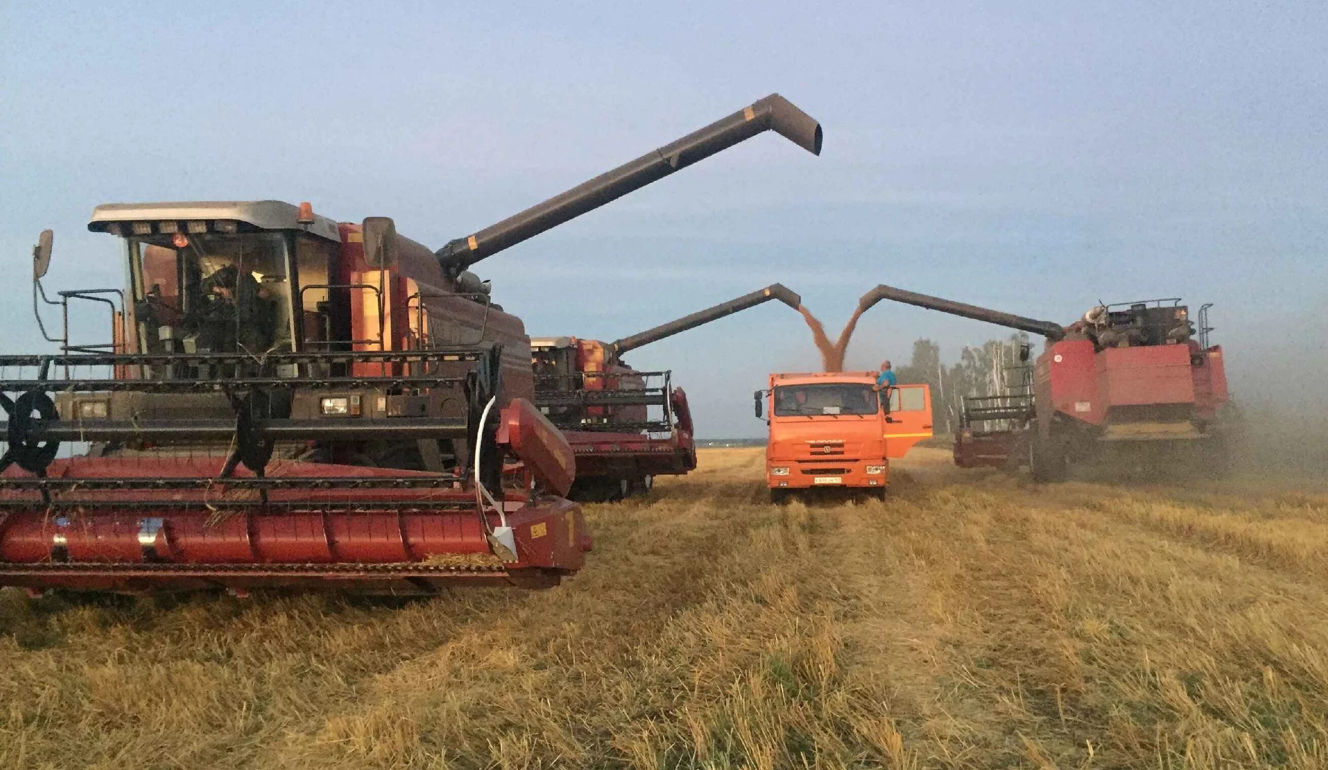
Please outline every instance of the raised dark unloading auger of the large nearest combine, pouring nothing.
M679 169L750 139L774 131L813 155L821 154L821 123L780 94L770 94L749 108L692 131L659 150L595 177L521 214L509 216L467 238L457 238L437 251L450 275L559 224L657 182Z

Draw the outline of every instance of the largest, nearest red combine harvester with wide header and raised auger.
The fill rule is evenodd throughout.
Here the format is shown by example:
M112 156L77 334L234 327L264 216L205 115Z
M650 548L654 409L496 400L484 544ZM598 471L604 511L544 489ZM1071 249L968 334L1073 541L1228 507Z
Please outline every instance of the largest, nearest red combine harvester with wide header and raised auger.
M591 539L575 455L534 405L530 340L465 268L765 130L778 96L438 252L388 218L275 200L98 206L129 285L60 307L54 354L0 356L0 585L556 584ZM69 307L110 311L74 344ZM41 316L39 315L39 324Z

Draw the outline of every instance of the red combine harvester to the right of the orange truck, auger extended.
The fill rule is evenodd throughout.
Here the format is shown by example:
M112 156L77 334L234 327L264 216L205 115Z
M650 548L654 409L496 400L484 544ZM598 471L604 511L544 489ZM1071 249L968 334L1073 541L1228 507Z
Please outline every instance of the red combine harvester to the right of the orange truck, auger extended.
M1179 299L1098 305L1069 327L888 285L863 295L859 307L883 299L1046 337L1031 396L1000 394L969 408L969 424L1004 427L961 431L960 465L1027 465L1036 481L1094 463L1226 471L1227 378L1222 346L1207 340L1210 305L1195 333Z

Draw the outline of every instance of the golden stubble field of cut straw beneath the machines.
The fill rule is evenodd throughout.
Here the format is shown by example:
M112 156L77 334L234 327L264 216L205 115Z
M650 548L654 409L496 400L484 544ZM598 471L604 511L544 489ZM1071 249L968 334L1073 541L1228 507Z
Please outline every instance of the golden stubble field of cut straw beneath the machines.
M1328 767L1328 494L761 450L592 506L547 592L0 595L0 767Z

